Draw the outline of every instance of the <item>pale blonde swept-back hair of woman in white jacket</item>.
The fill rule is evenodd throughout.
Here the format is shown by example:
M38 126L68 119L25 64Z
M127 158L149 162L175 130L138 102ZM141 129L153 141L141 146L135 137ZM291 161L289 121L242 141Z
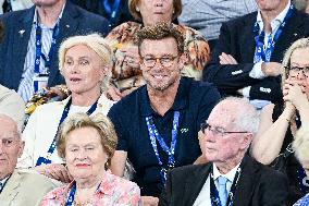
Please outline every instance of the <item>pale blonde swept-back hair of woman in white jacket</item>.
M113 52L107 43L107 40L101 37L99 34L82 35L82 36L72 36L65 39L59 49L59 69L60 71L64 68L65 53L69 49L77 45L85 45L91 50L94 50L101 59L103 66L106 69L106 77L102 80L101 90L104 90L109 81L111 78L112 65L113 65Z

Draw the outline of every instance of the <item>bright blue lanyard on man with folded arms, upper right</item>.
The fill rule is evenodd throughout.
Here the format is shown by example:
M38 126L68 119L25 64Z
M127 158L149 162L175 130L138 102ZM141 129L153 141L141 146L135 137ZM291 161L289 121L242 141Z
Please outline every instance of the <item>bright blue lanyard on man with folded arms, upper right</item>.
M272 52L274 50L274 45L277 41L280 35L283 32L284 26L286 25L287 20L292 16L294 7L293 4L291 4L284 20L283 23L280 25L280 27L277 28L276 33L274 34L274 37L272 38L272 35L269 35L268 38L268 45L264 46L264 37L265 37L265 32L262 31L261 34L259 35L259 24L258 22L256 22L255 27L254 27L254 33L256 33L255 36L255 41L256 41L256 54L255 54L255 63L259 62L259 61L263 61L263 62L270 62Z

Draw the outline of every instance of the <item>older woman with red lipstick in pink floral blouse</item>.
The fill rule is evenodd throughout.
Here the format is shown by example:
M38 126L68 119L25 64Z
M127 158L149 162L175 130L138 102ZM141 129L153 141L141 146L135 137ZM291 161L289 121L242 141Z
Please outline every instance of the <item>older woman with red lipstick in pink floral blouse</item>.
M113 124L103 114L76 113L59 132L57 148L73 182L47 194L48 205L131 205L140 201L138 186L108 170L116 146Z

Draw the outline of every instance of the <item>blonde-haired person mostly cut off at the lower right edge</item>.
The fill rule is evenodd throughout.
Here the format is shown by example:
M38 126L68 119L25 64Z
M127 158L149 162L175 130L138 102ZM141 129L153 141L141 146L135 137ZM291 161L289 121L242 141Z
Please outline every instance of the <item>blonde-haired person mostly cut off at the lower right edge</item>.
M307 116L308 117L308 116ZM306 177L302 179L308 184L309 178L309 118L307 122L302 121L302 126L297 131L295 141L293 142L293 149L295 156L305 169ZM309 193L297 201L293 206L307 206L309 205Z

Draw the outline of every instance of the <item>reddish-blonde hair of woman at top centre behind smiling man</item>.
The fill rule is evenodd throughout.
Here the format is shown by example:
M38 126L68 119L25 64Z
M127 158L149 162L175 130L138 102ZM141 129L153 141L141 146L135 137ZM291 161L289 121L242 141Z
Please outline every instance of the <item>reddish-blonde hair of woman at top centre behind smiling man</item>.
M139 1L143 1L143 0L128 0L128 11L136 20L143 21L143 16L140 12L136 11L136 8L138 8ZM173 0L173 8L174 8L174 11L173 11L172 19L175 20L176 17L181 15L183 11L182 0Z

